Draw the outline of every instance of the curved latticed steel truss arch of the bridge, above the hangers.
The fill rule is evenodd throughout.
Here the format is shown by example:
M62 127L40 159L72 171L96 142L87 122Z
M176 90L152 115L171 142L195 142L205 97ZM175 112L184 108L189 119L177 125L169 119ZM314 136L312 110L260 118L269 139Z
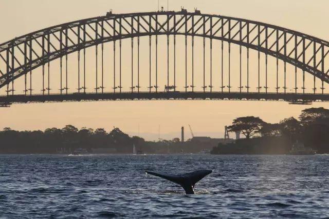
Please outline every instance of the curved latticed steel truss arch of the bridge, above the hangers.
M0 44L0 88L66 54L124 38L152 35L198 36L237 44L314 75L322 81L322 92L323 83L329 83L327 41L247 19L182 10L108 13L16 37Z

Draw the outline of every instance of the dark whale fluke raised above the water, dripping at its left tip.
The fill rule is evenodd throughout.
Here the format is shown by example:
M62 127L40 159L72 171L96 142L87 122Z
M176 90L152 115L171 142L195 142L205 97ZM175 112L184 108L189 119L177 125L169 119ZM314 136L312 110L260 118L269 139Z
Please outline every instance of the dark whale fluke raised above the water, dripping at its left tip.
M181 187L184 188L186 194L194 194L193 188L195 184L200 180L202 180L205 176L212 173L213 170L198 170L190 173L184 173L181 175L157 173L152 171L145 171L145 172L151 175L159 176L173 183L179 184Z

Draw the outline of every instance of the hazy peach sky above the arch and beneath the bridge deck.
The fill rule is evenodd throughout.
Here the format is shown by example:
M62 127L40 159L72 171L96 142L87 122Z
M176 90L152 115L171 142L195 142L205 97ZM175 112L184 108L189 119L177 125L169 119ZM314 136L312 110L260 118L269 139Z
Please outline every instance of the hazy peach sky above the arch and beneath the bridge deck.
M160 5L167 7L167 1L160 1ZM169 10L180 10L181 6L184 6L189 11L197 7L204 13L242 17L275 24L314 35L326 41L329 40L329 29L327 28L327 21L329 20L327 8L329 7L329 2L327 0L169 0ZM113 9L115 13L155 11L157 9L157 1L0 0L0 9L0 42L5 42L15 36L45 27L87 17L101 16L109 9ZM163 41L164 39L161 40ZM147 40L143 39L142 44L147 45ZM201 41L199 40L197 44L201 45ZM112 44L108 45L109 48L107 49L109 52ZM130 53L130 48L127 45L129 44L123 47L125 50L123 51L124 57L129 56L128 54ZM165 48L164 43L162 46ZM184 46L184 42L178 39L178 50L182 46ZM219 44L215 47L218 46ZM201 48L198 47L197 49ZM91 53L92 51L94 50L89 52ZM160 54L160 59L161 55L163 54ZM142 61L147 60L148 53L142 53L141 56ZM73 55L72 57L75 56ZM112 56L107 54L105 57L111 59ZM214 55L214 59L218 57L216 54ZM255 66L254 64L251 64L251 69ZM165 67L165 62L159 65L161 69ZM202 63L196 64L197 72L200 72L201 65ZM72 68L71 71L74 71L73 67L70 66L70 68ZM92 71L91 64L87 68ZM106 63L105 68L111 68L111 62ZM144 68L147 69L148 66L142 66L141 70ZM237 68L237 65L233 65L232 71ZM269 71L274 73L274 65L271 65L270 68ZM58 67L53 67L53 69L57 70ZM129 69L130 64L123 66L123 71L129 71ZM177 69L177 71L182 70L182 66L178 64ZM219 69L219 66L214 64L214 71L217 72L217 69ZM290 69L293 70L293 68ZM38 72L35 74L37 75ZM92 87L92 85L89 87ZM271 88L273 89L273 87ZM308 89L312 89L312 87L308 86ZM3 90L1 94L4 94ZM329 104L313 104L313 107L320 106L328 107ZM255 115L262 117L266 122L275 123L288 116L298 116L304 108L305 106L288 105L285 102L247 101L129 101L23 104L13 105L11 108L0 108L0 128L43 130L47 127L60 128L66 124L72 124L78 128L103 127L106 130L111 130L115 126L130 134L137 134L139 130L142 136L155 139L157 138L159 126L161 138L179 136L181 126L185 126L186 135L189 137L188 124L191 124L195 135L222 137L224 126L229 125L233 118L237 116Z

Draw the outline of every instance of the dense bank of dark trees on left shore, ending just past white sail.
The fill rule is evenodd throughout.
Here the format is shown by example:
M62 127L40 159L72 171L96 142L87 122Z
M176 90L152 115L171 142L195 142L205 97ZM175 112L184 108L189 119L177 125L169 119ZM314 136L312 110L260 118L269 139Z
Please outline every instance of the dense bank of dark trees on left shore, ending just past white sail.
M103 128L78 129L66 125L62 129L48 128L45 131L15 131L4 128L0 131L2 153L56 153L59 150L74 151L77 148L115 148L118 153L132 151L133 144L141 145L143 138L130 137L119 128L106 132Z

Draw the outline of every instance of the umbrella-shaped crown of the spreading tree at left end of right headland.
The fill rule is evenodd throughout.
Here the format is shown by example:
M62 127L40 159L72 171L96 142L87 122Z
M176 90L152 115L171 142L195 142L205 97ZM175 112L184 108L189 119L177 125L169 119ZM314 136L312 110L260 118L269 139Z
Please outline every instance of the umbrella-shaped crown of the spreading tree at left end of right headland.
M232 125L228 127L228 131L240 131L247 139L249 139L251 136L258 133L264 124L265 122L259 117L239 117L233 120Z

